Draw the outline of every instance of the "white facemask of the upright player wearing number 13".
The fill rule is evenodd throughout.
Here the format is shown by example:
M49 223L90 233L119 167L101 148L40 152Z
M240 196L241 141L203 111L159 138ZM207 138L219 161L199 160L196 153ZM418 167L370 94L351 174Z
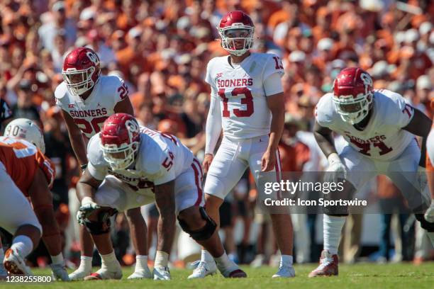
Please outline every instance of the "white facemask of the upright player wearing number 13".
M255 27L245 26L243 23L234 23L227 28L218 28L221 47L236 56L244 55L245 52L252 48L254 33ZM237 42L243 42L243 45L238 45Z

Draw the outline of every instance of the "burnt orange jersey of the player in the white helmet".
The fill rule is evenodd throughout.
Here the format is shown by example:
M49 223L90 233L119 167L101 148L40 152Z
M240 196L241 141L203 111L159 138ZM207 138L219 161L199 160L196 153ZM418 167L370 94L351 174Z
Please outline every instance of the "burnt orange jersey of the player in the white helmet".
M0 137L0 162L24 196L28 196L28 188L38 167L43 170L50 188L55 178L55 166L50 159L26 140Z

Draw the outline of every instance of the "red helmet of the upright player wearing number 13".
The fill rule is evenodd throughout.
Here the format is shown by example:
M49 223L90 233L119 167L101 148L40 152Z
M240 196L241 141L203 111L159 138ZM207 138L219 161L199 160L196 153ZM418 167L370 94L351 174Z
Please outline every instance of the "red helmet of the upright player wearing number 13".
M217 30L221 37L221 47L230 54L241 56L252 48L255 25L243 11L227 13L221 18ZM238 46L238 40L244 41L242 47Z

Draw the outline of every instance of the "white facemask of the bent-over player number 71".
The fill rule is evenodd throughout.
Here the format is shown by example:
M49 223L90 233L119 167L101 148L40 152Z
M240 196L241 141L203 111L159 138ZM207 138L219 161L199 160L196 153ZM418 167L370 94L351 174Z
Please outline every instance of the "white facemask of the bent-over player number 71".
M339 96L333 97L336 111L346 123L355 125L360 123L369 113L372 107L373 95L371 92L367 94L359 94L353 96Z

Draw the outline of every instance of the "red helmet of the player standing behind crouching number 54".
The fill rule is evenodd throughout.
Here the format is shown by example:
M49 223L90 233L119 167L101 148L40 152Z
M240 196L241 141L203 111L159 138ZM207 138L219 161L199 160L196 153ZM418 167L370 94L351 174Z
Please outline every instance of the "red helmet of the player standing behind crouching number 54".
M96 84L101 69L99 57L88 47L78 47L69 52L63 62L62 76L71 94L80 96Z

